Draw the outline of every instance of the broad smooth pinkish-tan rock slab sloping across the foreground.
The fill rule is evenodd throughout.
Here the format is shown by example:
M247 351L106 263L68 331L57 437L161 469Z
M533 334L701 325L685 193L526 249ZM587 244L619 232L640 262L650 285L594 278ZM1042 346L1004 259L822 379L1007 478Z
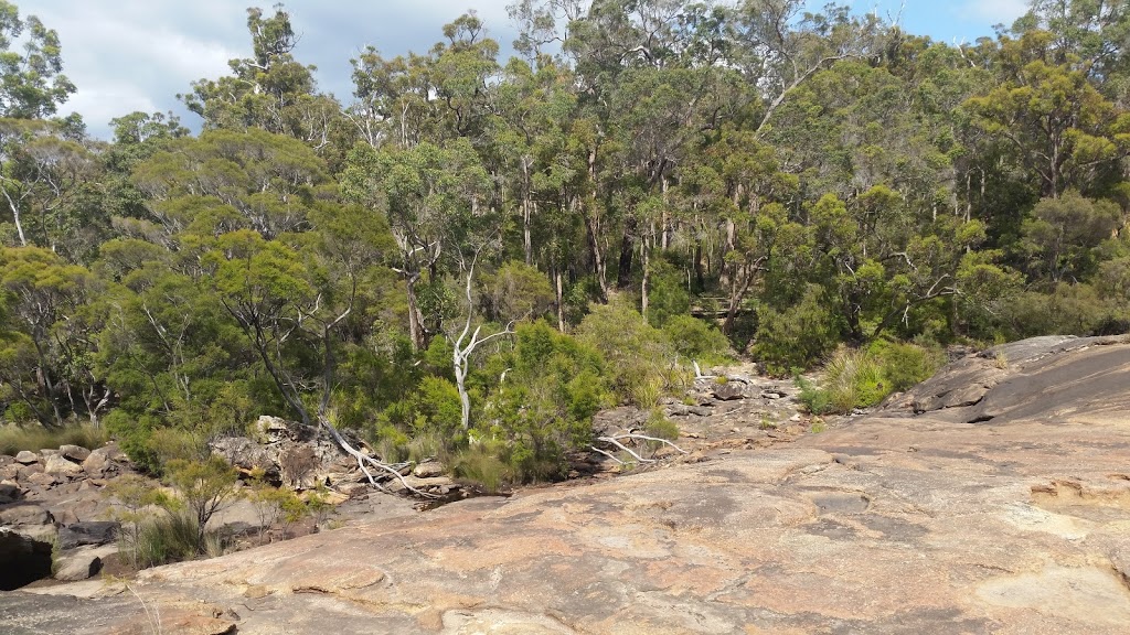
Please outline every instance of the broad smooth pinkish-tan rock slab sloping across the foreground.
M241 634L1123 634L1130 345L1045 343L955 362L999 371L973 403L914 408L939 381L788 444L151 569L72 630L24 592L0 621L150 632L144 601Z

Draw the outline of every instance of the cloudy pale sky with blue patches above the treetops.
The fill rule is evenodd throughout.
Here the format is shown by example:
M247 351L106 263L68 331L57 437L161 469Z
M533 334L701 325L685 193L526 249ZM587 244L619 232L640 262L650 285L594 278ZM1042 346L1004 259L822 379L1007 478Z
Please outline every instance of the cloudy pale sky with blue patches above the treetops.
M366 45L395 56L424 52L441 28L475 9L489 35L514 40L506 15L513 0L289 0L286 9L301 40L295 58L318 67L323 90L348 104L349 60ZM134 111L174 111L190 128L199 119L176 99L191 82L228 72L227 61L250 54L249 6L269 10L275 0L15 0L20 15L38 16L59 32L63 72L78 92L60 114L78 112L95 137L108 138L110 120ZM815 7L823 1L812 1ZM992 25L1010 24L1026 0L854 0L860 11L897 19L904 31L945 42L991 36Z

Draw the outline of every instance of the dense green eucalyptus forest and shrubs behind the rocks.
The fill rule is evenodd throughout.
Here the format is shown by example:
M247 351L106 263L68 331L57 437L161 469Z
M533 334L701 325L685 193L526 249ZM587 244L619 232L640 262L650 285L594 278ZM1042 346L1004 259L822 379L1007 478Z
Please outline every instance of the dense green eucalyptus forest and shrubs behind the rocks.
M199 133L133 112L104 141L56 116L67 43L0 1L3 420L160 471L324 418L530 480L731 351L791 375L1130 328L1130 2L971 44L797 0L511 17L511 59L468 14L362 51L342 101L251 8L246 58L181 95Z

